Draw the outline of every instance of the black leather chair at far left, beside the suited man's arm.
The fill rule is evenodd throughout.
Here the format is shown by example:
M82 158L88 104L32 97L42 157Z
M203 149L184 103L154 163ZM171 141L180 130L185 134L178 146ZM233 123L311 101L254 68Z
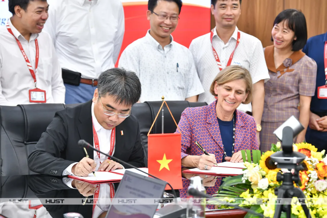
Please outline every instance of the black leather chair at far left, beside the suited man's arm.
M27 166L41 134L64 104L0 106L1 176L35 174Z

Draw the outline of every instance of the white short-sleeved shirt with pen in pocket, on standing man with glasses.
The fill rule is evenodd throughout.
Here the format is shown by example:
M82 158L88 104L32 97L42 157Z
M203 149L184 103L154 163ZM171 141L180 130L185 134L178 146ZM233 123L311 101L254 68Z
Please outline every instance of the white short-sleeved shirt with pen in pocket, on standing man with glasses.
M149 33L132 42L120 56L119 67L136 73L142 85L140 101L184 101L204 92L191 52L174 42L164 49ZM177 67L178 65L178 67Z

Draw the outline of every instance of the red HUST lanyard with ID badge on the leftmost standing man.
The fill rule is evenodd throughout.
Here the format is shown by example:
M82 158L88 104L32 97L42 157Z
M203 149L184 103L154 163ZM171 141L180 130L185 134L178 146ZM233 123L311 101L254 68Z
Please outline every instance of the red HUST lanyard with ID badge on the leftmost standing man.
M14 33L12 32L12 30L10 29L9 24L7 23L6 25L8 32L15 37ZM35 51L36 51L36 55L35 55L35 72L33 70L32 64L31 62L28 60L27 55L24 51L24 48L22 46L22 43L19 42L19 40L15 37L15 40L19 46L19 49L21 50L24 59L26 61L26 65L27 68L29 70L29 72L31 73L33 80L34 80L34 84L35 84L35 89L31 89L29 90L29 102L34 102L34 103L46 103L46 95L45 95L45 91L38 89L36 87L36 76L35 76L35 72L36 69L38 68L38 64L39 64L39 44L38 44L38 40L35 39Z

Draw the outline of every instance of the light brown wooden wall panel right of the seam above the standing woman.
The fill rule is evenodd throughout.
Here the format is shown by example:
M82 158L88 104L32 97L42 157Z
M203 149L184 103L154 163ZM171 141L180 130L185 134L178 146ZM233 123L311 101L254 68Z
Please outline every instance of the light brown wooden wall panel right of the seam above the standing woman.
M308 38L327 31L326 0L284 0L284 8L300 9L305 16Z

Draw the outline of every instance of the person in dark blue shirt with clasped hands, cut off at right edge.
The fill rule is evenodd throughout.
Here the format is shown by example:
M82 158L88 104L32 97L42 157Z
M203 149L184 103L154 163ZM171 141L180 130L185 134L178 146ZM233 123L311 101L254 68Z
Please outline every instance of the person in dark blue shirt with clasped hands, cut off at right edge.
M327 41L327 32L311 37L303 48L303 52L317 63L317 81L315 96L311 99L310 121L305 139L313 144L318 151L327 149L327 99L319 98L318 87L326 84L324 65L324 47ZM326 87L327 88L327 87Z

